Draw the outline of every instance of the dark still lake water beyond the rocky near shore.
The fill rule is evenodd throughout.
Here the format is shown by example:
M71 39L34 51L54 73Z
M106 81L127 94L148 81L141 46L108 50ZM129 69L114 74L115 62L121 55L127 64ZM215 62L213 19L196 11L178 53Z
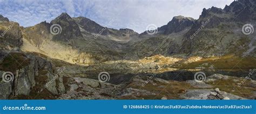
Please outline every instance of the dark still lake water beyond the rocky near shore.
M120 84L129 82L133 76L153 76L158 77L160 79L164 80L174 80L174 81L187 81L187 80L194 80L194 74L196 74L199 71L188 71L186 69L179 69L175 71L170 72L164 72L164 73L129 73L129 71L119 71L119 73L109 73L110 74L110 80L109 83L112 84ZM228 76L236 76L236 77L246 77L250 73L249 69L214 69L214 70L200 70L200 72L204 72L207 76L213 75L213 74L222 74L222 75L228 75ZM89 75L90 79L96 79L98 80L98 73L87 73ZM253 80L256 80L256 73L253 73L253 75L250 76Z

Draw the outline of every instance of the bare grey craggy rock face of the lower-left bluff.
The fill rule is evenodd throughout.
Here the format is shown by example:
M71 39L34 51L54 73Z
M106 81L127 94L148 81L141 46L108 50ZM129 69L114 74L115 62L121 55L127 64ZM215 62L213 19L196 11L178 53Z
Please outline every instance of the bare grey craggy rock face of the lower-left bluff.
M29 65L12 73L13 77L11 78L13 80L1 82L0 88L4 92L1 92L0 99L7 99L9 96L29 96L31 91L35 91L35 88L46 89L53 95L58 95L65 91L64 86L61 86L63 81L59 79L57 72L52 68L51 62L35 55L28 55L26 59L29 59ZM1 76L4 72L6 71L1 71Z

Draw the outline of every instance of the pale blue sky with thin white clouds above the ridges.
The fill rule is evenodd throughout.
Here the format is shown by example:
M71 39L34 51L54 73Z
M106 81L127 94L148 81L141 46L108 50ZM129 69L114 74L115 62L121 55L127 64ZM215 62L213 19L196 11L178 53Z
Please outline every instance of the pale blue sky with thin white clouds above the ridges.
M62 12L86 17L109 28L138 33L148 25L166 25L174 16L198 19L204 8L223 9L233 0L0 0L0 15L21 26L50 23Z

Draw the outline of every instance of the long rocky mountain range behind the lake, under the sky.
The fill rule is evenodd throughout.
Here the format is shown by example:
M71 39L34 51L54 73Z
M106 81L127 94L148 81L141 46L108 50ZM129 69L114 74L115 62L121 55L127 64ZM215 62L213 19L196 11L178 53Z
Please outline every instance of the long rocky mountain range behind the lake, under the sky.
M51 23L24 28L24 39L36 46L24 51L43 53L71 63L97 63L109 60L138 60L145 56L255 56L255 32L246 35L242 26L255 23L255 2L233 2L225 9L203 9L199 19L177 16L157 33L138 34L130 29L114 30L85 17L71 18L62 13ZM62 31L51 34L50 26ZM37 37L33 37L37 36ZM44 42L44 44L42 44ZM48 52L51 45L55 52ZM207 51L204 51L207 50Z

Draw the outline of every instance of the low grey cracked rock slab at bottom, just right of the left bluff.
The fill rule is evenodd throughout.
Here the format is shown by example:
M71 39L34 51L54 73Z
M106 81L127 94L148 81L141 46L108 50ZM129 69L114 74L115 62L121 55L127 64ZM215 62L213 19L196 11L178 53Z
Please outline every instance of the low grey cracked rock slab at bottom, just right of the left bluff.
M114 99L120 91L120 87L114 84L80 77L74 79L69 79L70 89L58 99Z

